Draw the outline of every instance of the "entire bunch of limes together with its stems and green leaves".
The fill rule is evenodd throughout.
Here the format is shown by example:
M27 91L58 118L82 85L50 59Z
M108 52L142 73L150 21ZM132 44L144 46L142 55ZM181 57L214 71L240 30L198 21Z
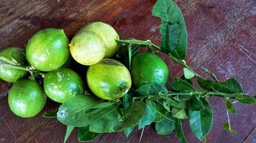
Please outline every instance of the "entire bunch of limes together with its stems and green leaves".
M223 129L236 134L229 119L229 112L237 114L233 104L256 104L256 96L245 94L234 78L219 81L203 68L208 79L186 64L188 34L174 1L157 0L152 15L161 19L160 46L150 39L119 39L109 24L93 22L70 41L63 29L42 29L29 39L25 50L0 51L0 78L14 83L8 95L12 112L33 117L47 97L60 103L58 111L45 112L43 117L57 117L67 126L64 142L75 127L78 140L90 142L108 132L123 131L128 137L135 127L143 133L154 123L157 134L168 135L175 129L180 142L186 143L183 119L205 142L214 120L207 99L219 97L227 109ZM147 52L141 53L143 48ZM165 86L168 66L158 52L183 66L183 76L172 78L170 90Z

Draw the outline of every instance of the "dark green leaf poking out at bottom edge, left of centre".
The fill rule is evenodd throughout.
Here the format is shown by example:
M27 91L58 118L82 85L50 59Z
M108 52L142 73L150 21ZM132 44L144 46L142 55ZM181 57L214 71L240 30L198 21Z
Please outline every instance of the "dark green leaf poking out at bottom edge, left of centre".
M89 127L78 128L78 141L79 142L92 142L94 139L99 137L99 133L90 132Z

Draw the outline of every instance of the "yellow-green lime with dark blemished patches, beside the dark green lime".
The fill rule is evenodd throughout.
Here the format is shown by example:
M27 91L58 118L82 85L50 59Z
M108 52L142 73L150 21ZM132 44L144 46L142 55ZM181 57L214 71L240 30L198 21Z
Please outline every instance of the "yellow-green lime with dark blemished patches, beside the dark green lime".
M132 85L128 69L114 59L103 59L90 66L86 79L93 94L106 100L123 97Z

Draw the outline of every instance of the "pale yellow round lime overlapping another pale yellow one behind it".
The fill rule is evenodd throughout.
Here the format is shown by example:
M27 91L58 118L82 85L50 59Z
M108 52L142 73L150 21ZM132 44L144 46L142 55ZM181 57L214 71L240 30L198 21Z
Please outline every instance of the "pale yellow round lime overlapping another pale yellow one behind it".
M103 39L91 31L76 34L69 46L73 59L86 66L98 63L106 53Z

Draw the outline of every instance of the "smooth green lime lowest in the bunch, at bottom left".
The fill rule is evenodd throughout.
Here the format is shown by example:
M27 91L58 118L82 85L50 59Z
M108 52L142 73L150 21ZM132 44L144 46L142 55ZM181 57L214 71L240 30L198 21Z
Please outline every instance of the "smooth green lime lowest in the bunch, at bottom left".
M19 117L34 117L45 106L46 95L40 85L29 79L16 82L9 91L8 104Z

